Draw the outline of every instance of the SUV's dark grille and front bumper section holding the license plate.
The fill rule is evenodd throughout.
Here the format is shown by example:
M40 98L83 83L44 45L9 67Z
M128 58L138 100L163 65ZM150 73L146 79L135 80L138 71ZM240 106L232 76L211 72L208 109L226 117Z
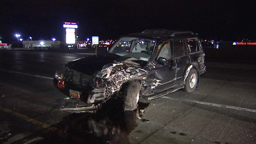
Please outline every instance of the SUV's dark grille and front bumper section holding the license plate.
M104 88L93 87L96 79L96 77L69 70L66 73L56 71L53 82L65 95L78 98L88 104L95 104L102 103L110 97Z

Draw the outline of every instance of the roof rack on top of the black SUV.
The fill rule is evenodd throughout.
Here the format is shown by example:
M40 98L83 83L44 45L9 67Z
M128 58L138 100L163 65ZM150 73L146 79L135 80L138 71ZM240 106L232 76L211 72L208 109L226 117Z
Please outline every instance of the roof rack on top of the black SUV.
M160 34L166 34L169 36L175 36L179 34L194 34L191 31L169 31L166 29L152 29L152 30L145 30L142 33L160 33Z

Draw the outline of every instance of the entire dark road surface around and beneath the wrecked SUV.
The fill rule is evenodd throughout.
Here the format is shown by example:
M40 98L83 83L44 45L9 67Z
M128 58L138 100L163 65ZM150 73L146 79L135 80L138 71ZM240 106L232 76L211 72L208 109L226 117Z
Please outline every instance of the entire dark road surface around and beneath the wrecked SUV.
M140 100L138 111L121 111L119 100L96 112L60 111L82 103L65 100L54 73L83 56L0 50L0 143L256 143L255 63L206 59L194 92Z

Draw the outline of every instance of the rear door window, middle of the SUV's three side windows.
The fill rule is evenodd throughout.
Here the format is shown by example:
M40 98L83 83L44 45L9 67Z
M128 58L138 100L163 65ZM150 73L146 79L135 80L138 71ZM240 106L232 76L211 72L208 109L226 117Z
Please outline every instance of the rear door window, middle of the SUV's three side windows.
M174 58L185 55L185 46L184 46L183 40L173 41L173 55L174 55Z

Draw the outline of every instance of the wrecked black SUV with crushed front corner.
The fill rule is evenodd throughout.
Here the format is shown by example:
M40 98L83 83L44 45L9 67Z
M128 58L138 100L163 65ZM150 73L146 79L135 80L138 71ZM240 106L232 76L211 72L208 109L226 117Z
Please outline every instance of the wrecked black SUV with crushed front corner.
M122 36L108 53L65 67L65 73L55 73L54 83L66 95L97 105L122 93L126 111L135 110L140 98L152 100L179 89L192 92L205 72L198 35L165 29Z

